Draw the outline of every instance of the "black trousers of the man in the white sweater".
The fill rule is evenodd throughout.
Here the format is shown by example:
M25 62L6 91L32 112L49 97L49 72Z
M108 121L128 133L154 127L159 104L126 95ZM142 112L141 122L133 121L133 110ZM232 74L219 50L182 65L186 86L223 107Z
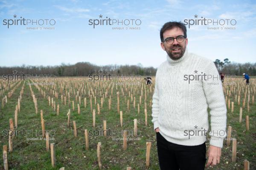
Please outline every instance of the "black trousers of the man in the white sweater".
M161 170L204 170L207 160L205 142L196 146L174 144L159 132L157 153Z

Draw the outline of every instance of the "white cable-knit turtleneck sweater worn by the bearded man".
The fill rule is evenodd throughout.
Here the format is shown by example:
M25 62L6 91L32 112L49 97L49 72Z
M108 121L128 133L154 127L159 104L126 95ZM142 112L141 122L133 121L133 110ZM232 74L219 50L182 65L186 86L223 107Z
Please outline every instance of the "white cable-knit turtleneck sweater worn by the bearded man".
M193 76L204 73L206 76L192 80ZM189 75L191 81L188 81ZM208 75L214 78L207 80ZM218 75L212 61L188 53L187 48L183 57L176 61L167 55L167 61L158 67L156 73L152 99L154 129L159 127L160 134L167 141L187 146L203 144L206 136L198 130L205 129L205 134L211 137L210 144L222 147L227 135L227 108ZM210 134L207 132L207 107L210 109Z

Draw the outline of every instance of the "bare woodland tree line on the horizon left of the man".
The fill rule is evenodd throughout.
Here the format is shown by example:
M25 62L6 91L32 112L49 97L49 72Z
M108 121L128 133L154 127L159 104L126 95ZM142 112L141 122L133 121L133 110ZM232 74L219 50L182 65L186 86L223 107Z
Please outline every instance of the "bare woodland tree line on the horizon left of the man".
M156 75L157 69L154 67L143 67L140 63L137 65L106 65L97 66L89 62L79 62L76 64L64 64L59 66L0 66L0 75L17 74L24 72L26 75L56 75L56 76L88 76L99 74L103 71L112 75Z

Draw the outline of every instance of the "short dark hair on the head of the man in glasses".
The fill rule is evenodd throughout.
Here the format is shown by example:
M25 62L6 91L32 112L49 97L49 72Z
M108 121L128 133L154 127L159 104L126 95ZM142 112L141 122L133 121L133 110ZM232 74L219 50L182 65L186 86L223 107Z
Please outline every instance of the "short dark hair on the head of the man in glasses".
M169 29L173 29L173 28L180 28L182 29L183 33L184 33L184 37L186 38L186 26L184 25L184 23L181 23L181 22L176 22L176 21L172 21L172 22L168 22L168 23L165 23L163 25L163 27L161 28L160 30L160 38L161 38L161 42L163 42L163 33L166 31L166 30L169 30Z

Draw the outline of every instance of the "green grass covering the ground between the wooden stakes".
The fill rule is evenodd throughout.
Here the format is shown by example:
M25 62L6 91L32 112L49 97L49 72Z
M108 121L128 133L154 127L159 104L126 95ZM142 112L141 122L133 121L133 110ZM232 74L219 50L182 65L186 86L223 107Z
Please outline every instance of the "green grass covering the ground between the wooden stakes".
M72 79L71 81L75 81ZM23 84L23 82L22 82ZM17 98L19 96L22 84L15 90L14 95L8 98L8 103L0 112L0 132L9 129L9 118L13 118L15 105L17 104ZM98 87L99 88L99 87ZM130 103L130 110L127 110L124 97L120 94L120 110L123 111L123 127L120 127L119 114L116 111L116 88L113 89L112 106L111 110L108 110L108 98L105 99L103 108L101 108L101 114L97 114L97 107L94 105L93 109L96 109L96 127L92 126L92 113L90 112L90 100L88 98L88 90L86 95L81 98L81 114L77 113L77 102L75 101L75 111L71 108L61 104L61 98L59 94L58 99L54 99L57 104L60 104L60 113L57 116L48 105L48 95L50 91L44 89L47 93L44 99L41 92L35 86L32 86L34 94L38 100L38 114L35 114L35 107L29 86L25 84L24 94L21 102L21 110L18 114L18 128L23 127L25 130L41 130L40 110L43 109L45 127L46 130L55 130L55 156L56 166L52 168L50 152L46 151L46 144L44 140L27 141L24 136L16 136L13 139L13 152L8 152L8 164L9 169L13 170L58 170L61 167L65 167L67 170L94 170L99 169L97 162L97 143L102 143L101 158L103 169L111 170L125 170L126 167L131 166L136 170L146 169L145 167L145 155L146 155L146 141L153 141L151 145L150 161L151 166L149 170L159 169L157 146L156 146L156 134L153 130L153 124L151 123L151 106L149 101L152 97L152 93L147 94L147 110L148 110L148 126L145 126L144 119L144 99L142 99L142 105L140 106L140 114L137 114L137 103L139 102L140 89L136 92L136 109L133 108L133 103ZM125 90L125 89L124 89ZM121 93L121 89L118 89ZM109 91L109 94L111 90ZM144 90L143 90L144 93ZM6 92L7 94L7 92ZM128 92L125 92L128 95ZM84 108L84 97L87 98L87 107ZM3 96L1 97L3 98ZM75 100L74 95L71 95L71 101ZM231 98L232 101L232 98ZM100 103L99 91L97 92L97 102ZM256 103L256 102L255 102ZM67 127L67 112L71 110L70 127ZM232 126L233 130L237 131L237 161L231 162L232 144L227 147L226 141L224 141L224 147L222 148L221 163L211 169L217 170L233 170L243 169L243 161L247 159L250 161L250 169L256 169L256 106L250 106L250 112L247 113L247 108L243 109L242 122L239 123L239 106L235 103L234 112L231 113L231 109L227 112L227 126ZM250 117L250 131L245 131L245 115ZM98 126L103 126L103 120L107 120L107 127L112 130L133 130L134 118L138 120L138 130L142 131L141 140L128 141L127 150L123 151L122 141L113 141L111 137L98 136L95 139L89 137L89 150L85 150L84 144L84 129L87 130L99 130ZM76 121L77 135L73 135L73 123ZM232 142L231 142L232 143ZM2 153L2 146L8 145L8 139L2 134L0 135L0 153ZM228 164L226 163L228 161ZM3 168L3 161L0 161L0 169Z

